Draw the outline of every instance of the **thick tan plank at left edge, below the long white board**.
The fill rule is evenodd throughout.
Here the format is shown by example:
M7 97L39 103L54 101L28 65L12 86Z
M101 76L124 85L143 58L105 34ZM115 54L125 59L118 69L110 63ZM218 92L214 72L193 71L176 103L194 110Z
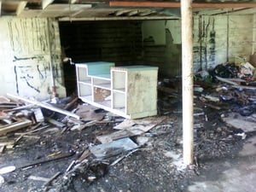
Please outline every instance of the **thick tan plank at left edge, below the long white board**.
M11 125L0 126L0 136L5 135L6 133L11 132L11 131L16 131L16 130L22 129L22 128L24 128L26 126L29 126L29 125L32 125L31 120L21 119L20 121L15 122Z

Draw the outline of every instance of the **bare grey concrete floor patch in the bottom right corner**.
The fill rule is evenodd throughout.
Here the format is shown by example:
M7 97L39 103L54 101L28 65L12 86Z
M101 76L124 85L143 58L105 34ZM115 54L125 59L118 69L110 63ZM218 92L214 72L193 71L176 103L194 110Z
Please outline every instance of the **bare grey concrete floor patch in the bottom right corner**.
M212 162L213 165L214 162ZM222 167L215 177L209 176L195 181L189 192L255 192L256 191L256 137L245 141L241 152L233 159L217 162Z

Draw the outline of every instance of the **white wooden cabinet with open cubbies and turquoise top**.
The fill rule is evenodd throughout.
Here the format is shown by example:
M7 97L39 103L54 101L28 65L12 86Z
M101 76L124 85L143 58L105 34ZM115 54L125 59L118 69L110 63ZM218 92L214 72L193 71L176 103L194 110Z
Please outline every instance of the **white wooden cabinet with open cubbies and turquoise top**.
M158 67L76 64L79 98L128 119L157 114Z

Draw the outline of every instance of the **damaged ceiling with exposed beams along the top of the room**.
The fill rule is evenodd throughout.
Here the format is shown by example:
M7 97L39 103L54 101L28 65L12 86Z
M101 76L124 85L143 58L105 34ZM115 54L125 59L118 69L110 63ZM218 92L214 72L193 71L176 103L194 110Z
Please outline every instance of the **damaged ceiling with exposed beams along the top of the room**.
M194 0L195 15L255 14L256 0ZM180 18L178 0L2 0L0 15L59 20L146 20Z

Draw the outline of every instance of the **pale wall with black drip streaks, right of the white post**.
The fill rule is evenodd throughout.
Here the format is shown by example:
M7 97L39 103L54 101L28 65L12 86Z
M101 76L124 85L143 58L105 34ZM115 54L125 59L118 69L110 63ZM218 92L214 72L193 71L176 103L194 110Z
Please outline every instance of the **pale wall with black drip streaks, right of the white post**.
M194 17L194 72L249 58L253 49L253 15Z

